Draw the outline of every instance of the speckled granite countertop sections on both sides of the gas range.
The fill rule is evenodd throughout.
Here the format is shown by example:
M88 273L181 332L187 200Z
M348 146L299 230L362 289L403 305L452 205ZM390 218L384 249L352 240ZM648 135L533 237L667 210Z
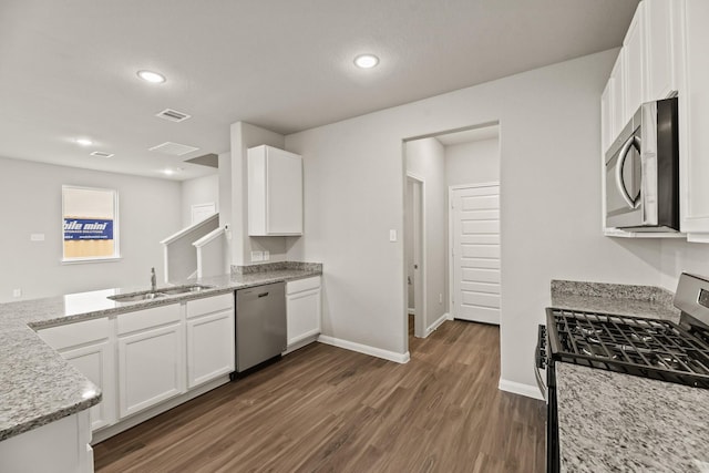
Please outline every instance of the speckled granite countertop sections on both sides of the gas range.
M552 305L677 321L672 294L552 281ZM709 472L709 390L557 362L562 472Z

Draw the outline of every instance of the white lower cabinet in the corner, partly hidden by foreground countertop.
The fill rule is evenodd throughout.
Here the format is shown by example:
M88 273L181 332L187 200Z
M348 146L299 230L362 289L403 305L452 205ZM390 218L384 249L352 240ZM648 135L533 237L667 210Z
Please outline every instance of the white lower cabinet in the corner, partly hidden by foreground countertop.
M81 371L102 391L102 400L91 408L91 429L115 422L115 351L113 328L107 317L85 320L38 331L50 347Z

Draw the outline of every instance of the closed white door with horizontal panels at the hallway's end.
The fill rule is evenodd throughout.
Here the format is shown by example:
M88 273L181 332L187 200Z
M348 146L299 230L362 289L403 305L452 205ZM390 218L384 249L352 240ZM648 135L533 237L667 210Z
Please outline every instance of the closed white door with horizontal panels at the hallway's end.
M500 184L451 189L453 317L500 325Z

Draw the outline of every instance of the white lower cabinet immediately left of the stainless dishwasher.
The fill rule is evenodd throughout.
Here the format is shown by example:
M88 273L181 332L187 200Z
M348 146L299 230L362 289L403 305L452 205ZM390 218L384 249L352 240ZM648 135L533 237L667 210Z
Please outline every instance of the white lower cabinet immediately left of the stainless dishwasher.
M234 294L186 306L187 388L195 388L234 371Z

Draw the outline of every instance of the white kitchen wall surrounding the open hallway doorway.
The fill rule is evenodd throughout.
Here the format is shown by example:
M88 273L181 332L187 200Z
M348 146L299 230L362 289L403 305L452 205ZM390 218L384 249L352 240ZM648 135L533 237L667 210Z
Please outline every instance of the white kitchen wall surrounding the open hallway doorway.
M322 261L323 333L405 350L402 140L500 121L502 379L534 385L549 280L660 281L660 244L600 233L600 93L617 50L286 136L304 156L305 236Z

